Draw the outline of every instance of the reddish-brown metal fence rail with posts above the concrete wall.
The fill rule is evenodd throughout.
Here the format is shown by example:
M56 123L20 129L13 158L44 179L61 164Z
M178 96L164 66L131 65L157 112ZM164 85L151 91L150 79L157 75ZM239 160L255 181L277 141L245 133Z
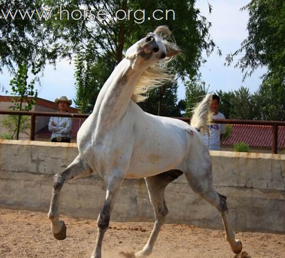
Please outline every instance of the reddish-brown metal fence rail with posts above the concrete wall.
M36 117L67 117L67 118L88 118L89 114L79 113L55 113L55 112L34 112L34 111L7 111L0 110L0 114L13 114L20 116L31 116L30 140L35 139ZM190 118L175 118L184 122L190 122ZM278 126L285 126L285 121L264 121L264 120L238 120L238 119L213 119L213 122L229 125L267 125L272 126L271 153L277 154Z

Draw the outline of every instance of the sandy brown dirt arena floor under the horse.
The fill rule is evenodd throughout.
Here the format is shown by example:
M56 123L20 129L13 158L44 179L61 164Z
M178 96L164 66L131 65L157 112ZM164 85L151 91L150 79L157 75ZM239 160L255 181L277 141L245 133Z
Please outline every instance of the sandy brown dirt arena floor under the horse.
M62 216L67 238L53 239L46 213L0 209L0 257L90 257L97 234L96 221ZM153 223L110 222L102 258L133 257L147 242ZM285 235L237 233L243 252L234 255L220 230L166 224L151 258L284 257ZM120 254L125 252L125 254Z

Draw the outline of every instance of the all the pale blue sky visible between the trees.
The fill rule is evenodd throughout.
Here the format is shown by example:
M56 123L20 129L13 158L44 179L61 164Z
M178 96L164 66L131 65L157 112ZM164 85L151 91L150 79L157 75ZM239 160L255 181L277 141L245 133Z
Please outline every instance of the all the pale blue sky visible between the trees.
M260 76L265 73L265 69L255 71L251 77L242 82L242 73L239 69L234 68L234 65L230 67L223 65L226 55L236 51L247 37L248 13L241 12L240 8L248 4L249 0L209 0L209 3L213 7L211 14L209 14L208 1L206 0L197 0L196 8L200 9L208 21L212 22L210 34L216 45L222 50L222 56L219 56L217 51L214 51L209 57L204 54L207 63L200 69L202 80L206 82L207 86L210 85L210 92L237 90L243 85L253 93L261 84ZM69 99L74 99L76 90L73 73L73 63L67 60L59 61L55 69L53 66L46 66L44 76L41 77L41 86L36 85L39 92L38 97L54 101L55 98L66 95ZM0 86L3 85L8 90L8 94L0 92L0 95L10 95L10 80L10 74L4 69L4 73L0 74ZM184 97L185 88L180 83L178 99L184 99Z

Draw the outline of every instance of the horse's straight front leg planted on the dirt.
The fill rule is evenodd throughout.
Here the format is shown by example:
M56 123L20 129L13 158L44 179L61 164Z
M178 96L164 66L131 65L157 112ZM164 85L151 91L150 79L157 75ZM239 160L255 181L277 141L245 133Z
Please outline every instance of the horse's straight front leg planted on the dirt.
M113 170L112 173L105 180L106 182L106 197L103 207L100 211L97 220L97 239L95 249L91 255L91 258L101 258L101 248L104 238L104 234L109 227L110 215L115 203L115 197L117 196L120 186L124 180L124 173L121 170Z

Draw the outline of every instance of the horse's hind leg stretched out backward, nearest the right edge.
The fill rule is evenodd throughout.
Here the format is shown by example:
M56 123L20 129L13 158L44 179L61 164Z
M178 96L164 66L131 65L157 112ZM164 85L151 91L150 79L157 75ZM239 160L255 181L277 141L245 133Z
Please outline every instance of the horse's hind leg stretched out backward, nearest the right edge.
M185 176L192 190L200 195L203 199L207 200L208 203L216 207L216 209L219 211L225 230L225 239L230 243L234 253L240 253L242 250L242 243L241 241L235 239L235 233L230 225L226 206L226 197L216 192L212 186L212 168L209 167L209 169L206 170L208 171L205 173L185 173Z

